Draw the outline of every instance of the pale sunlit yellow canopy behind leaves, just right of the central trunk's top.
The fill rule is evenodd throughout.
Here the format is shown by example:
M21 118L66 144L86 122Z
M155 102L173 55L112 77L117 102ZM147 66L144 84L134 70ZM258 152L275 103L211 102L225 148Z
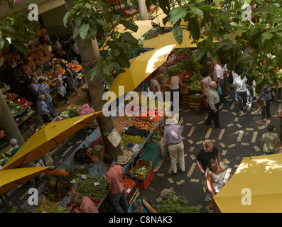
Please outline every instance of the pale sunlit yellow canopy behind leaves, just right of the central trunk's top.
M136 23L136 26L138 26L138 31L133 32L131 30L126 29L121 23L119 23L116 28L114 28L114 31L118 31L119 33L125 33L125 32L129 32L133 35L134 38L136 38L137 40L144 35L147 31L151 30L151 28L153 28L152 24L151 24L151 20L146 20L146 21L134 21ZM106 38L106 42L107 40L109 40L109 37ZM102 46L102 48L100 48L100 50L107 50L108 47L105 46L106 42L104 42L104 45Z

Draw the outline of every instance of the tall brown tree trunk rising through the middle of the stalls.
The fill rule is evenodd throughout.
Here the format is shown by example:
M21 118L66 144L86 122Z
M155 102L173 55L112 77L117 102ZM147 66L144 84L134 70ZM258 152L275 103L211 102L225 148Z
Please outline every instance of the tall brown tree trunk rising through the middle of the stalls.
M72 0L65 0L65 4L67 7L67 11L70 11L72 9ZM80 35L77 35L75 41L77 42L78 50L80 50L80 57L82 59L83 69L85 71L85 74L87 75L87 84L90 90L92 105L95 111L102 111L103 106L106 103L106 101L102 100L102 96L104 94L102 79L99 75L97 75L97 77L91 80L89 73L90 70L92 70L92 68L96 64L97 57L99 57L97 56L97 54L99 54L99 49L97 50L97 40L92 40L92 38L88 34L85 40L82 40L82 38L80 38ZM107 135L109 135L109 133L114 129L112 116L105 117L104 115L102 115L97 118L97 121L99 124L99 129L101 131L107 155L110 155L113 160L116 160L117 157L122 153L121 148L120 146L114 148L107 139Z

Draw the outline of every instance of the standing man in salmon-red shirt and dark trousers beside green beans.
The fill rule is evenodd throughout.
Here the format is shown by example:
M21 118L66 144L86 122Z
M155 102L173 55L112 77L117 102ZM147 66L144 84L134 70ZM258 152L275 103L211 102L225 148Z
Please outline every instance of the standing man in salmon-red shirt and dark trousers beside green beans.
M124 170L120 165L114 165L112 157L106 155L104 163L109 167L106 172L107 189L111 193L112 207L116 213L127 213L129 202L124 188Z

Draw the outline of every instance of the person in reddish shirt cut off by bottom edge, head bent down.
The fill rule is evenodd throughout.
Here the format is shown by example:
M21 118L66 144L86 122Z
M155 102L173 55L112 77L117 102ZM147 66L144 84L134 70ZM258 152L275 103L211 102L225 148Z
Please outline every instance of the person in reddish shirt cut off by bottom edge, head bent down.
M99 213L97 207L87 196L82 196L80 193L75 192L70 198L74 204L69 207L69 213Z

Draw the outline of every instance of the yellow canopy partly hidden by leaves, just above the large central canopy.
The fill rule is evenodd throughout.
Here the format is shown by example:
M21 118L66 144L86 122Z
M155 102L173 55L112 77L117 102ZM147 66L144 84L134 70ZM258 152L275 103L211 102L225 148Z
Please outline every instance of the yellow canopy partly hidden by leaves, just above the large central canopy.
M146 40L143 43L143 48L160 48L165 45L175 45L174 48L197 48L197 43L192 43L192 37L190 39L189 35L189 31L183 30L183 42L179 45L173 37L173 32L169 32L156 38L152 38L151 40ZM201 40L202 39L199 41Z

